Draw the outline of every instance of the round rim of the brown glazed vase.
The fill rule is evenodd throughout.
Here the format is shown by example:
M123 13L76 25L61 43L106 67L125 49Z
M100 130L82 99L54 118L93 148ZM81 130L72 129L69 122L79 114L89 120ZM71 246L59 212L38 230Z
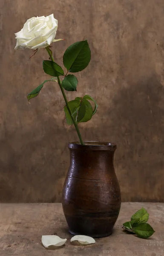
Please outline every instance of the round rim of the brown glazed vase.
M81 145L78 141L68 143L68 148L72 149L90 149L90 150L110 150L115 151L117 145L111 142L102 141L84 141L85 145Z

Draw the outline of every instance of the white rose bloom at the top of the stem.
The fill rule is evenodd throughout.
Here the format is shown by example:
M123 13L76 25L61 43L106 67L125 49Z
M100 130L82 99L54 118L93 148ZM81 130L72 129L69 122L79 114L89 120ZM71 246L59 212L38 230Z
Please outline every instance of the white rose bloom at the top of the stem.
M19 32L15 33L17 45L14 49L40 49L49 46L55 40L56 31L58 29L58 20L54 15L47 17L32 17L27 20Z

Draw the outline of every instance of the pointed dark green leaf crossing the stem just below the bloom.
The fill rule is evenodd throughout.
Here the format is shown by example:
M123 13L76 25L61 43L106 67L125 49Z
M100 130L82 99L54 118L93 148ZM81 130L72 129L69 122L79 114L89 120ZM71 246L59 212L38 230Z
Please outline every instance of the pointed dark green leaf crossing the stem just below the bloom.
M43 70L50 76L64 76L63 69L54 61L43 61Z

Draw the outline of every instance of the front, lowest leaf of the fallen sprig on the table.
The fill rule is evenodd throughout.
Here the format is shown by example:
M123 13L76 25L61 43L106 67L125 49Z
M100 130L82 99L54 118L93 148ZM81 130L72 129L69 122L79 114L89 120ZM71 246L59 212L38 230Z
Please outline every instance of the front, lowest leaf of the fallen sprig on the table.
M134 227L133 230L140 238L149 238L155 232L148 223L138 224L138 226Z

